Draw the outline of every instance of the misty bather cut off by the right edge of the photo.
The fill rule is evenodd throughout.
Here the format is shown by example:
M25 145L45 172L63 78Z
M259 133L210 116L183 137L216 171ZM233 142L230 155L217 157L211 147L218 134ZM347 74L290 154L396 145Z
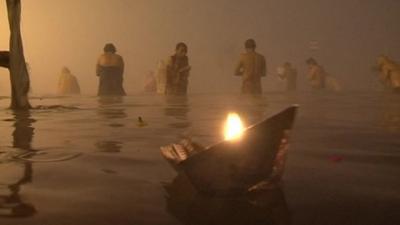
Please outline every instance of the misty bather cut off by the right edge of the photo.
M400 65L385 55L378 57L379 78L387 89L400 93Z

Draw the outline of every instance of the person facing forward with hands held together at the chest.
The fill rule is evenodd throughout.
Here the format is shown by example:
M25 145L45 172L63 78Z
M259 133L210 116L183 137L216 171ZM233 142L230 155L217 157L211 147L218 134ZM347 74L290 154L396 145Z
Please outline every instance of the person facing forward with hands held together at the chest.
M187 45L180 42L175 47L175 54L167 60L165 94L186 95L191 70L187 53Z

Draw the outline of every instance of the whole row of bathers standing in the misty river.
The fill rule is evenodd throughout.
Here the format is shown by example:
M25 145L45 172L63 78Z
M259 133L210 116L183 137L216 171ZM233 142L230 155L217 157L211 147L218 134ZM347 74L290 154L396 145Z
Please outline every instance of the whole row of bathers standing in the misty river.
M234 69L234 75L242 77L242 94L261 94L261 79L267 75L265 57L256 51L256 42L248 39L244 43L245 52L239 57ZM124 60L116 53L112 43L104 46L96 65L96 75L99 78L98 95L126 95L123 87ZM176 45L175 54L161 61L156 73L151 72L146 77L144 90L165 95L185 95L188 91L189 64L188 46L180 42ZM306 60L308 66L307 79L314 90L341 89L338 81L327 73L314 58ZM385 87L400 91L400 66L387 56L378 58L380 80ZM297 88L297 70L290 63L285 62L277 69L277 77L286 82L286 89L294 91ZM58 84L58 94L80 94L77 78L66 67L62 69Z

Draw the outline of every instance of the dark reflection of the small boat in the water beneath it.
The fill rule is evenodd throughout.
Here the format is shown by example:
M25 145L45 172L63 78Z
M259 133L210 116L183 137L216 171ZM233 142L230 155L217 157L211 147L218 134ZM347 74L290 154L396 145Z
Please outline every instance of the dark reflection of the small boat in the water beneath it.
M182 224L289 225L291 216L279 187L246 195L213 197L198 194L184 174L165 185L167 211Z

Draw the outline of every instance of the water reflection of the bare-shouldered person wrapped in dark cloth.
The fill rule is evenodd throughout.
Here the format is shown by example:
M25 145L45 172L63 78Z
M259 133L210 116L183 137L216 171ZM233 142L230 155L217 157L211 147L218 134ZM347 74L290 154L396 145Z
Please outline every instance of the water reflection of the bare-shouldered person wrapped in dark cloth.
M98 98L99 109L98 114L105 120L108 127L123 128L125 127L124 119L128 117L123 106L124 98L121 96L103 96ZM107 138L110 138L110 134ZM96 148L100 152L119 153L123 147L123 143L116 140L101 140L95 143Z

